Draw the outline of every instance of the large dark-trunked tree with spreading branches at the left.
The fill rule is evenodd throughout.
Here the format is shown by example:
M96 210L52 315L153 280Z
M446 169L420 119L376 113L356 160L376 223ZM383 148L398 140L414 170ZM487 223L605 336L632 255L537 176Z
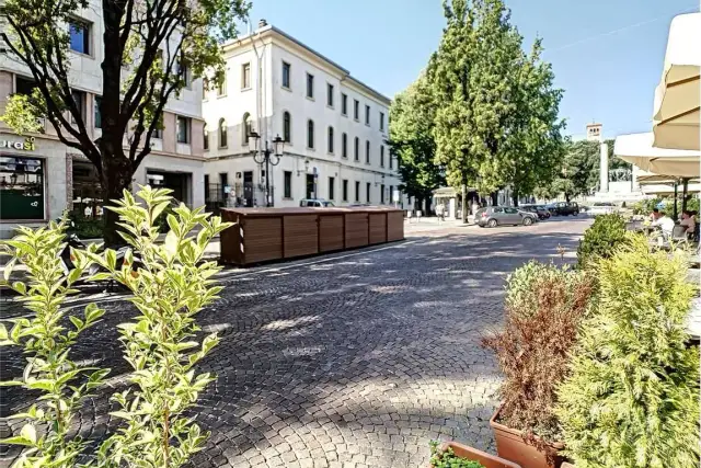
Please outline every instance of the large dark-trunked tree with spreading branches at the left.
M96 3L96 2L95 2ZM69 28L81 9L102 8L102 136L92 140L72 98ZM151 151L165 103L188 80L223 77L220 43L237 34L245 0L7 0L1 34L12 59L25 66L36 88L10 98L4 122L19 134L46 117L66 146L96 168L103 199L119 198ZM105 241L116 243L117 216L105 210Z

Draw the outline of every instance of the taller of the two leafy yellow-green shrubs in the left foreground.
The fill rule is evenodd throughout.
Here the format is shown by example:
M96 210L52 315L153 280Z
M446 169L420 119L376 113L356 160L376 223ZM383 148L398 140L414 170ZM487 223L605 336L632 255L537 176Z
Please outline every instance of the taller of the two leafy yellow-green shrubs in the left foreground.
M134 368L129 381L136 389L113 397L119 409L112 415L126 426L100 447L99 460L107 465L117 460L129 466L179 467L207 437L184 414L215 379L212 374L195 373L195 365L219 342L216 333L197 341L200 329L195 317L221 290L211 279L219 266L203 255L211 238L229 224L210 218L204 208L191 210L181 204L166 216L170 231L164 242L157 243L156 220L170 206L170 192L141 187L139 204L125 191L112 208L119 214L122 237L139 252L140 269L133 270L130 250L119 266L113 250L101 256L89 254L134 294L130 300L141 312L133 322L118 326L125 358ZM200 229L194 236L196 227Z

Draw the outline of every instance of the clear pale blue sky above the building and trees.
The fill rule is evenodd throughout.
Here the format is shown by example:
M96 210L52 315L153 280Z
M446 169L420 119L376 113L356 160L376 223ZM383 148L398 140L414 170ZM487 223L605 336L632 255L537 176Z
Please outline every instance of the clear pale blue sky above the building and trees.
M285 31L392 98L426 66L440 42L441 0L252 0L251 21ZM565 133L591 122L604 136L650 132L669 22L699 0L506 0L529 48L543 38L564 90Z

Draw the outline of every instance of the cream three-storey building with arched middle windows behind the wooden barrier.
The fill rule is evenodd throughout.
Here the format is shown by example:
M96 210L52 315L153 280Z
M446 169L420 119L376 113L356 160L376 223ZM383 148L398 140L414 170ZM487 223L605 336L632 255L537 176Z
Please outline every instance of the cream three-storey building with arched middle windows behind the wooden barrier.
M264 21L223 54L226 80L203 103L208 204L403 205L386 141L388 98ZM284 149L271 157L266 183L260 150L267 144L274 153L277 136Z

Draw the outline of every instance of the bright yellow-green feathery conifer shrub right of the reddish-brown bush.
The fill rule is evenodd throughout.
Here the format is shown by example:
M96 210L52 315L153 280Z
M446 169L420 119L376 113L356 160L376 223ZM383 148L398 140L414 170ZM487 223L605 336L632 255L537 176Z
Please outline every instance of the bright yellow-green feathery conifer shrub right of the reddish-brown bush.
M697 466L699 355L685 345L694 294L686 262L641 238L598 273L598 306L559 389L568 456L577 467Z

